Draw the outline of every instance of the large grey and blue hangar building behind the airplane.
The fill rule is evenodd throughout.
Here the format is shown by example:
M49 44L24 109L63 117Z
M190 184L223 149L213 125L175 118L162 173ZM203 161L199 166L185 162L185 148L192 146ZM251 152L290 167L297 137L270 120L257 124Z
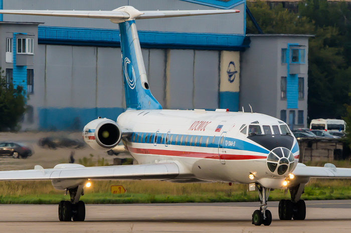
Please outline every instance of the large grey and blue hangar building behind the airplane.
M250 104L292 128L306 126L308 36L246 35L245 0L0 0L3 9L128 4L141 11L241 11L136 21L150 90L163 108L250 111ZM125 110L117 24L9 14L0 20L1 66L29 96L22 129L81 129Z

